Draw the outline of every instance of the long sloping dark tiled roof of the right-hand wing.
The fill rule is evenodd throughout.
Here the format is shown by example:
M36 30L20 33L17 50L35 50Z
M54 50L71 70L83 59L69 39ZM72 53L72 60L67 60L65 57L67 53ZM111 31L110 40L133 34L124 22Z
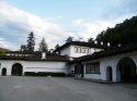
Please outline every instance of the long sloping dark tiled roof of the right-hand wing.
M91 55L84 55L84 56L77 58L73 61L71 61L70 63L92 61L92 60L95 60L95 59L112 56L112 55L127 53L127 52L133 52L133 51L137 51L137 47L136 46L127 47L127 48L103 50L103 51L100 51L100 52L94 52Z

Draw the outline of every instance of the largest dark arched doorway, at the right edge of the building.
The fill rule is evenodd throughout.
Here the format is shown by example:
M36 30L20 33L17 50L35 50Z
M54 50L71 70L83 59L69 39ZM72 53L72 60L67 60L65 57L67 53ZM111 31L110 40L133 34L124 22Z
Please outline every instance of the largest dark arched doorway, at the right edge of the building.
M130 58L123 58L117 63L117 80L121 83L137 81L136 64Z

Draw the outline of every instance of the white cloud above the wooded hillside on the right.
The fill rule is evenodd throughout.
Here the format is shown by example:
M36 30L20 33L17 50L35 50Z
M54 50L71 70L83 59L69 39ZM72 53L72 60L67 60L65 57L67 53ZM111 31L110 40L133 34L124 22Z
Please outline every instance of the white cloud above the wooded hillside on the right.
M73 24L81 28L78 35L81 35L81 37L87 40L90 37L95 38L102 30L106 30L107 27L114 27L116 24L122 23L124 20L130 18L134 15L136 14L129 13L111 20L100 18L92 22L78 18L73 22Z

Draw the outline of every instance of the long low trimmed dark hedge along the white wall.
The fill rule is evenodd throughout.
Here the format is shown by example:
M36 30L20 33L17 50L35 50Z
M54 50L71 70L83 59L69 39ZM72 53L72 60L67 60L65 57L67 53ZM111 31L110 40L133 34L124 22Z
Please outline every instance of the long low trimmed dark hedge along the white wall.
M65 73L46 73L46 72L25 72L25 76L53 76L53 77L65 77Z

